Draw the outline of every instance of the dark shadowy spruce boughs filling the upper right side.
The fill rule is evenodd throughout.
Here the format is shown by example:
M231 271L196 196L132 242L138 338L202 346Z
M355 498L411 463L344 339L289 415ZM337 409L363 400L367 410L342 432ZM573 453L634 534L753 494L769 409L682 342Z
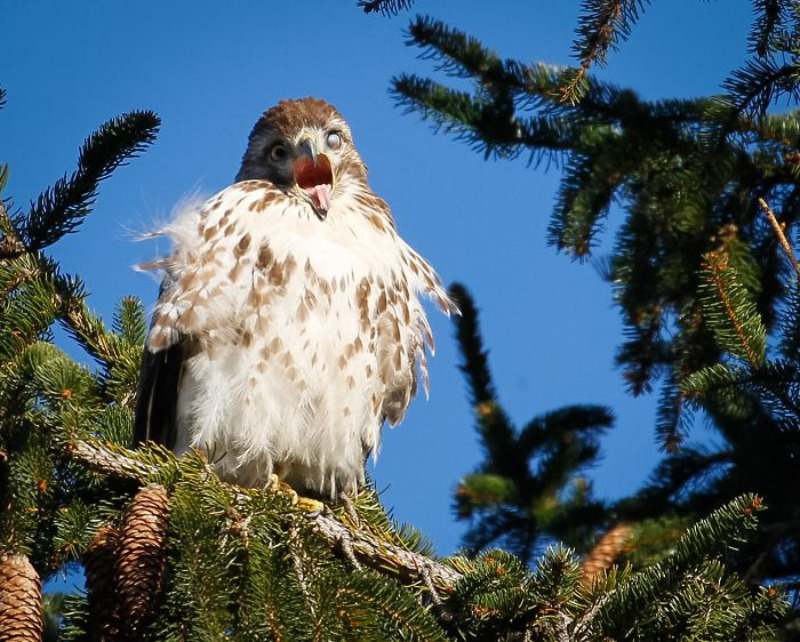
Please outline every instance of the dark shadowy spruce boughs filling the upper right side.
M656 432L666 454L643 489L610 507L612 521L636 521L632 558L657 559L687 519L757 491L773 510L732 563L751 586L777 579L796 601L800 10L788 0L753 3L750 58L720 95L646 101L590 70L647 4L585 0L573 68L504 59L417 17L409 44L472 90L403 74L392 91L486 158L561 163L548 239L559 251L587 259L606 219L622 217L610 256L596 263L626 324L617 363L627 386L633 394L660 387ZM778 98L789 107L768 111ZM716 444L690 441L698 418L710 420ZM515 509L513 499L501 504ZM530 514L517 528L537 523ZM647 544L658 538L661 546Z

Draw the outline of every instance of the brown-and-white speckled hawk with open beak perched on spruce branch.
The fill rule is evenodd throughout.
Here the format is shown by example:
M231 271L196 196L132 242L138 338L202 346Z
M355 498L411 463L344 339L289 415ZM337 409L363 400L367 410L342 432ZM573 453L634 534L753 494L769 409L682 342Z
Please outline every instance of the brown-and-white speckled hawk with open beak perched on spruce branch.
M384 422L426 394L420 303L457 312L367 182L350 128L313 98L268 109L236 183L180 209L145 344L135 441L208 453L223 478L335 496Z

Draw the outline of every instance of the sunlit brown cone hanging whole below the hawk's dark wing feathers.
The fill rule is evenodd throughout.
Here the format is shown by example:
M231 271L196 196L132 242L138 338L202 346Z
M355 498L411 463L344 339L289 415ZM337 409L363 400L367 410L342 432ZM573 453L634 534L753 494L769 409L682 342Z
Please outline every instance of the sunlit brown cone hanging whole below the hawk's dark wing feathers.
M125 513L117 557L117 595L120 615L132 633L152 611L161 589L168 510L167 491L150 484L136 494Z

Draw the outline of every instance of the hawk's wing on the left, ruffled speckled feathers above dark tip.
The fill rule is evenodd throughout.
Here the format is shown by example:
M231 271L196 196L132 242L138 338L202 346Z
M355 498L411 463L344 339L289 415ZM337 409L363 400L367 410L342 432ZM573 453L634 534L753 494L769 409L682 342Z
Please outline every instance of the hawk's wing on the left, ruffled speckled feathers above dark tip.
M148 269L166 274L147 336L136 404L134 445L154 441L174 448L177 403L187 359L209 331L232 327L249 292L239 261L250 236L243 213L268 209L281 194L270 183L245 181L205 203L189 202L159 234L170 237L170 256Z

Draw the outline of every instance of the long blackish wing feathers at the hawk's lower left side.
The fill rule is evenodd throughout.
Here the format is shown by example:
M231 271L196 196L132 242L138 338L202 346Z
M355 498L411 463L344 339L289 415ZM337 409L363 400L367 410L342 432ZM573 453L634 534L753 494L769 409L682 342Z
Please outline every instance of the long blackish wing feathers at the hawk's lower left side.
M174 448L177 440L178 386L183 372L184 344L153 352L147 347L142 357L133 445L154 441Z

